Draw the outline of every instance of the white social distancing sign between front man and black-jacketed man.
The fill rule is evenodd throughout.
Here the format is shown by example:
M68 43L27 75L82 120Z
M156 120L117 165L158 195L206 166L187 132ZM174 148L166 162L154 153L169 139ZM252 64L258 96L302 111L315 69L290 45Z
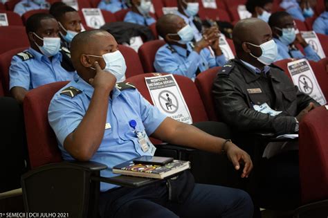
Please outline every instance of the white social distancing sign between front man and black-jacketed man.
M172 74L145 80L155 107L174 120L192 124L188 106Z

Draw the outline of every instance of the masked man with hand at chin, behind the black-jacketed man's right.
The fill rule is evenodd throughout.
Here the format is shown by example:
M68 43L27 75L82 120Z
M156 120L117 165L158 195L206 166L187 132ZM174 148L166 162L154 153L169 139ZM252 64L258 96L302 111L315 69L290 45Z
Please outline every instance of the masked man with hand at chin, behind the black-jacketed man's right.
M278 49L275 61L291 57L307 58L307 60L315 62L320 60L319 55L307 44L302 35L295 33L294 20L289 13L284 11L273 13L268 20L268 25L271 27L273 40L275 40ZM295 44L300 44L304 48L305 55L296 48Z

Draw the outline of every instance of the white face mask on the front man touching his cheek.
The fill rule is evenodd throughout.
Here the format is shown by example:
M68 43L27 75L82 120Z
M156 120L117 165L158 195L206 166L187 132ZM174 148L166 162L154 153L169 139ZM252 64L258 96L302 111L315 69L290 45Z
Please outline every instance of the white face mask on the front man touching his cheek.
M123 82L125 80L125 71L127 70L127 65L125 64L125 59L120 53L120 51L114 51L112 53L106 53L102 56L89 55L91 57L102 57L106 66L104 71L109 71L111 74L115 75L117 82ZM93 69L93 68L91 68Z

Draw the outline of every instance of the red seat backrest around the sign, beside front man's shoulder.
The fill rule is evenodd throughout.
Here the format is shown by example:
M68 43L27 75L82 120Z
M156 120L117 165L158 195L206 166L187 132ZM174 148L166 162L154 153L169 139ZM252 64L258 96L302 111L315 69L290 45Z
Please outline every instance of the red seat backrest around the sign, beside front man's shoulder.
M163 75L167 73L162 73ZM152 98L150 97L150 93L147 89L145 77L153 77L155 75L159 75L158 73L144 73L140 75L136 75L134 77L128 78L126 82L131 82L134 84L138 91L146 98L149 102L153 104ZM192 116L192 122L200 122L208 120L208 116L206 114L205 107L203 102L201 101L201 96L199 96L199 92L197 90L196 85L190 78L187 78L183 75L174 75L176 82L179 84L181 93L183 98L185 99L185 103L188 105L188 109L190 111L190 115Z

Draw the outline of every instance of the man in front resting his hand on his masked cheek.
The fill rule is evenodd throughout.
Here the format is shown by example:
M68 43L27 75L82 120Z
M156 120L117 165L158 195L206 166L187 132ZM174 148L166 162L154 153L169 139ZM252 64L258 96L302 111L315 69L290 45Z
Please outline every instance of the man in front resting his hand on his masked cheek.
M252 163L230 140L210 136L196 127L165 117L131 85L116 84L125 73L125 61L112 35L104 30L79 33L71 43L78 77L58 91L48 109L64 160L97 161L112 167L142 155L153 155L148 135L176 145L208 152L222 149L242 177ZM107 57L111 58L107 58ZM98 64L99 63L99 64ZM142 137L138 137L142 133ZM192 180L186 181L190 187ZM184 192L184 187L179 189ZM170 201L165 180L143 188L100 184L101 217L252 217L253 205L242 190L194 184L182 201Z

